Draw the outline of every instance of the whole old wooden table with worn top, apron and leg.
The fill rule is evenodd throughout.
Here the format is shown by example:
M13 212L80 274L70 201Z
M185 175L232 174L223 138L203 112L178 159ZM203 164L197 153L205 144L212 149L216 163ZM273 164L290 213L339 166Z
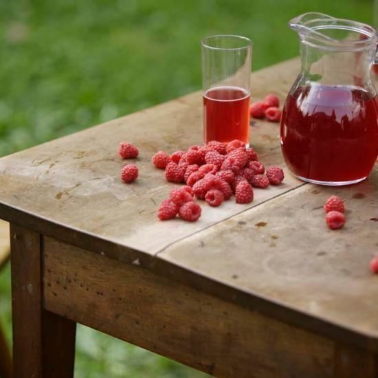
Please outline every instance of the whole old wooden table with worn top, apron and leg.
M297 60L252 76L279 93ZM11 223L15 377L71 377L76 322L227 377L378 377L378 170L348 188L284 184L253 203L203 205L197 223L159 222L174 184L151 156L201 141L192 93L0 159L0 216ZM252 146L281 164L277 124ZM140 148L120 181L118 143ZM333 232L322 205L346 200Z

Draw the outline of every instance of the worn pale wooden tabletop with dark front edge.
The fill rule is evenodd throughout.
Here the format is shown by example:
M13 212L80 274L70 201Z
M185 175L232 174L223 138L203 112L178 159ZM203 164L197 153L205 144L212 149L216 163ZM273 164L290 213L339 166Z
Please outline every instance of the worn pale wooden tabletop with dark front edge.
M283 101L298 60L252 74L254 100ZM279 126L252 122L251 144L266 166L285 166ZM378 351L378 169L349 187L304 184L285 169L280 186L256 189L247 205L202 205L196 223L158 221L175 184L151 157L202 140L196 92L0 159L0 217L93 252L153 269L216 296ZM120 180L120 141L138 146L140 177ZM130 161L131 162L131 161ZM346 200L347 222L331 231L322 205Z

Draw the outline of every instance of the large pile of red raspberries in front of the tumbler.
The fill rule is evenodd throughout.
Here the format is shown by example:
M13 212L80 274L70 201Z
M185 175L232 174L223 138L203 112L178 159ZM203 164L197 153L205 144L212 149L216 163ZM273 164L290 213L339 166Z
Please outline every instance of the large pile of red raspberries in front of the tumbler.
M164 221L177 214L186 221L197 221L201 214L199 205L188 204L195 203L194 198L216 207L234 194L236 203L249 203L254 199L253 188L278 185L284 179L283 170L278 166L270 166L265 171L254 149L246 148L240 140L228 144L211 141L172 155L159 151L151 161L155 167L165 170L167 181L186 184L173 189L169 199L160 205L158 217ZM193 216L188 215L188 209L194 212Z

